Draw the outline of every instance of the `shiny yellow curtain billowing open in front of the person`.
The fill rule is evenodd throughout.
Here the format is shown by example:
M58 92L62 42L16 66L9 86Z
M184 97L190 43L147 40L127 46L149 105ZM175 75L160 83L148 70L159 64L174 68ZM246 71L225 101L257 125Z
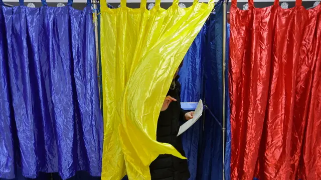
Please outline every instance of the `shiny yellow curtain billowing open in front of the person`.
M179 1L164 9L111 9L101 0L101 63L104 143L102 179L150 179L149 164L159 154L183 157L156 141L159 111L174 73L214 7Z

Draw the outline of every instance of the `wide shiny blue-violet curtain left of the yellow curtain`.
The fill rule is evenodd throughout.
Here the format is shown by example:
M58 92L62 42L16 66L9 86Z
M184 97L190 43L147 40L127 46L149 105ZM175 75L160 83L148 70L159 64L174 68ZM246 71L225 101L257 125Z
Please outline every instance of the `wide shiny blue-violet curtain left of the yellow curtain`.
M0 6L0 177L101 173L90 1L71 7ZM3 3L2 1L0 2Z

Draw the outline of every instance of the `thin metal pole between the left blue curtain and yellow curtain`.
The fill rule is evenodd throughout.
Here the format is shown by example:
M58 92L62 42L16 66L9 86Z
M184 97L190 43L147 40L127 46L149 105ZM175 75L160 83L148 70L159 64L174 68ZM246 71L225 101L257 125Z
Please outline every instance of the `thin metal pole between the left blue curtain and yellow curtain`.
M98 87L99 87L99 104L101 109L101 97L100 97L100 70L99 70L99 46L98 46L98 16L97 16L97 0L92 0L94 6L93 20L94 20L94 31L95 31L95 46L96 46L96 64L97 64L97 78L98 78Z

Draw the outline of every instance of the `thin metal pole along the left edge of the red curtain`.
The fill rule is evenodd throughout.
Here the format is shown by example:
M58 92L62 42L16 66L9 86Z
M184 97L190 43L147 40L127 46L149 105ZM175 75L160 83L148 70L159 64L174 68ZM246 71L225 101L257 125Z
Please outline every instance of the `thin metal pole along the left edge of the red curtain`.
M223 180L225 179L225 170L224 170L224 161L225 161L225 69L226 69L226 13L227 13L227 2L228 0L223 1L223 112L222 112L222 133L223 133Z

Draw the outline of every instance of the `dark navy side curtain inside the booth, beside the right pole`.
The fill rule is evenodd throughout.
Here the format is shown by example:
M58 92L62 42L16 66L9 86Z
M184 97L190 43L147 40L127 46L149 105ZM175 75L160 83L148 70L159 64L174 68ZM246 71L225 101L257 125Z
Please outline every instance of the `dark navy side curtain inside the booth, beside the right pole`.
M201 153L198 166L198 179L222 179L222 95L223 95L223 78L222 78L222 61L223 61L223 1L216 3L214 12L210 15L206 25L206 45L204 48L204 102L208 106L205 110L204 131L202 137ZM228 52L227 52L228 53ZM226 59L228 62L228 58ZM227 75L227 69L226 69ZM226 95L228 92L226 84ZM228 96L226 96L226 104ZM229 112L229 106L226 106L226 114ZM227 132L228 132L228 115ZM227 133L227 147L230 139ZM230 149L226 149L226 154ZM229 159L226 162L229 164ZM225 167L228 172L228 165ZM229 179L229 174L225 174Z

